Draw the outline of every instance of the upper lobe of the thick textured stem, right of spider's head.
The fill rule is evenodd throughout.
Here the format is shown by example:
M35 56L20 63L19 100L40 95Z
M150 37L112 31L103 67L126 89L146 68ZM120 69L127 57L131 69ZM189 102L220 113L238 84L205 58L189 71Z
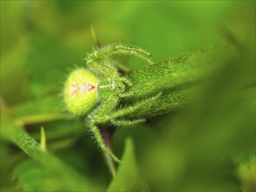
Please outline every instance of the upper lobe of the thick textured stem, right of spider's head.
M235 56L232 45L212 45L131 72L132 99L209 79Z

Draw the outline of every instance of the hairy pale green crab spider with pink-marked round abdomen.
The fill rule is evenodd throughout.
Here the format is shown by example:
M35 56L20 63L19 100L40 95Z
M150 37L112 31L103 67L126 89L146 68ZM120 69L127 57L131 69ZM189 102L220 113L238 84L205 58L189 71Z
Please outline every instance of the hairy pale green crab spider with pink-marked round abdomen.
M98 126L128 127L144 122L145 119L126 120L124 118L157 99L161 93L139 101L134 106L115 110L121 98L133 95L126 90L127 86L133 86L133 84L129 79L121 76L113 64L111 57L114 55L134 55L153 64L149 59L149 52L135 46L114 44L100 47L86 58L89 70L81 68L69 75L65 84L64 100L69 112L77 116L86 116L87 127L93 133L100 149L114 161L119 162L120 160L105 144Z

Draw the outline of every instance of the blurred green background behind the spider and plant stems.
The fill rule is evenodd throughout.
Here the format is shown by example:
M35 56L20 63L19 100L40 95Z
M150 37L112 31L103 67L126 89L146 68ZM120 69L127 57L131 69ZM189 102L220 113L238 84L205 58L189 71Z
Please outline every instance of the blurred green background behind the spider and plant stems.
M117 131L113 146L121 156L126 138L133 139L144 190L239 191L244 178L252 180L251 169L251 180L245 172L237 174L233 158L255 161L255 89L235 91L243 83L255 83L254 1L1 1L1 113L62 111L58 95L66 74L74 65L83 66L86 52L94 47L91 24L102 44L139 45L156 61L222 43L223 29L232 31L246 45L248 57L233 61L240 68L231 70L228 80L221 76L220 87L213 86L199 104L183 112ZM132 69L144 65L133 58L124 61ZM41 126L53 154L92 185L107 189L112 177L83 120L26 128L38 140ZM27 159L8 142L1 143L3 191L29 189L22 184L17 188L21 180L14 174ZM51 189L51 182L45 183Z

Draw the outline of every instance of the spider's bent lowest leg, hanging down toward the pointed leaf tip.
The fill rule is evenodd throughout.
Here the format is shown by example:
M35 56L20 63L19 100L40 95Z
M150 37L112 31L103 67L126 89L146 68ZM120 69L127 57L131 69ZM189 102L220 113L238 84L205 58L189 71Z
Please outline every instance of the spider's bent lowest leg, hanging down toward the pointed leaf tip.
M114 106L118 103L118 97L113 96L109 99L107 99L106 102L100 105L100 107L97 109L96 112L93 112L90 117L89 121L89 128L93 132L96 141L98 142L99 147L101 148L102 151L107 153L109 156L111 156L114 161L120 162L120 160L113 154L113 152L106 146L105 141L103 140L102 135L100 134L100 130L96 126L99 122L97 121L97 116L104 116L107 113L110 113L113 109Z

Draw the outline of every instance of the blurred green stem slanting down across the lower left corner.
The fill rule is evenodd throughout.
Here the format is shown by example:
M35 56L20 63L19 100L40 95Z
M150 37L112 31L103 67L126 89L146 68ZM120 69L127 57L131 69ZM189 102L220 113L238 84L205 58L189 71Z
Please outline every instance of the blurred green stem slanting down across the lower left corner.
M86 186L92 186L90 182L58 157L46 150L42 150L40 144L24 130L17 120L6 115L1 117L2 138L16 144L31 159L37 161L38 165L45 169L45 173L58 177L59 181L63 182L68 188L72 189L73 186L76 186L77 189L86 189ZM69 185L70 183L72 184Z

